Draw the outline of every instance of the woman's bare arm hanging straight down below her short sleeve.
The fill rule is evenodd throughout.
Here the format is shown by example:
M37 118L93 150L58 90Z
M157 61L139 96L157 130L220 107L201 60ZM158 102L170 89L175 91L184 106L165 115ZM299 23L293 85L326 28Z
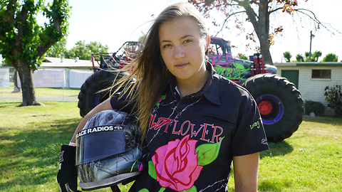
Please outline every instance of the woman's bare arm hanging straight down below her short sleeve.
M259 152L233 156L235 191L257 191Z

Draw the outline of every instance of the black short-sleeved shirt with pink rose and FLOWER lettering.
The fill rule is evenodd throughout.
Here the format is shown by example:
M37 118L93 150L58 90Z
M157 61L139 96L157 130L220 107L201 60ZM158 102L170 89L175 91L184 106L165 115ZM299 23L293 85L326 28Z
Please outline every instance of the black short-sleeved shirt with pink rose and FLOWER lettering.
M142 154L148 167L135 191L224 191L233 156L268 149L252 95L209 63L207 70L211 75L202 90L185 97L170 75L151 113Z

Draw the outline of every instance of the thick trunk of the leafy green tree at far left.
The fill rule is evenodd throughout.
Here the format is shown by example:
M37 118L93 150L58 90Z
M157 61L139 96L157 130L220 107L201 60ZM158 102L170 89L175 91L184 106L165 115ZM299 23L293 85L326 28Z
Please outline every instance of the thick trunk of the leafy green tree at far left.
M17 61L17 68L21 82L21 92L23 94L23 102L20 106L43 105L36 100L36 93L33 82L33 70L20 60Z

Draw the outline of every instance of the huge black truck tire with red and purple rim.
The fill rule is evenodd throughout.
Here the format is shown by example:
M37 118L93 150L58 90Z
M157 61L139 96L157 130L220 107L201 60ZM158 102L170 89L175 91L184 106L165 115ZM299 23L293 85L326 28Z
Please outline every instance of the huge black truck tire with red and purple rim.
M243 84L256 100L267 140L281 142L299 127L304 102L294 84L279 75L259 74Z

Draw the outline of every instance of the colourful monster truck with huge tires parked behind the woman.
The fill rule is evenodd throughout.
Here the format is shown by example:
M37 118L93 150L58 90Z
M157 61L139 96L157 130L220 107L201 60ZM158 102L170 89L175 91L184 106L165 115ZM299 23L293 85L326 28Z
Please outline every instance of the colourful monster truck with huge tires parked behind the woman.
M118 74L112 68L121 68L134 58L138 42L126 42L117 52L93 54L99 68L81 87L78 107L82 117L110 95L106 88L113 85L125 73ZM233 58L229 41L211 37L209 61L216 72L224 78L245 87L257 102L261 119L269 142L281 142L290 137L301 124L304 102L301 93L292 82L276 75L274 65L264 65L261 55L254 54L250 60ZM95 63L95 62L93 62Z

